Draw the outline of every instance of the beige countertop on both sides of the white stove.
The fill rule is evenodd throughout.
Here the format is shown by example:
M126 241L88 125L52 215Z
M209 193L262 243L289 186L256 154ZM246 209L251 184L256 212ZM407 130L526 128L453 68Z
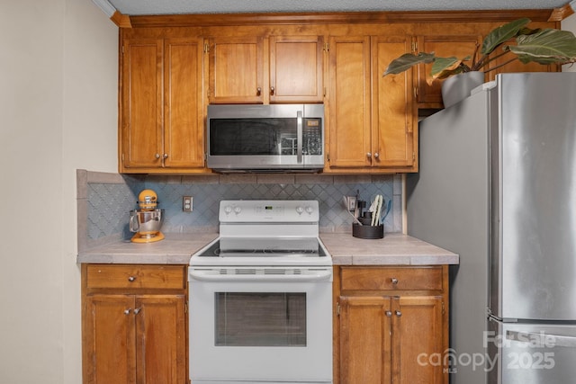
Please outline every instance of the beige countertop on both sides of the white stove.
M77 263L187 264L216 233L166 234L156 243L136 244L130 240L97 246L77 256ZM335 265L433 265L457 264L458 255L415 237L385 234L366 240L351 234L321 233Z

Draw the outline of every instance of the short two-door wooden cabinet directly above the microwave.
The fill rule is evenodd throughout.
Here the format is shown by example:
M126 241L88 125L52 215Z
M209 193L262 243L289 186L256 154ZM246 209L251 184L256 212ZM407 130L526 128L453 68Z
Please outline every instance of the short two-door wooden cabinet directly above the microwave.
M210 103L323 100L321 36L218 37L206 47Z

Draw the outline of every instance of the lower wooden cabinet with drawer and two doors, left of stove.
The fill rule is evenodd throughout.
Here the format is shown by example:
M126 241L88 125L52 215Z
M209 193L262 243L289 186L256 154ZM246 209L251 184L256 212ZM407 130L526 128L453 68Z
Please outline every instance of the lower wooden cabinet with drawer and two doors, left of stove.
M84 384L188 382L184 265L82 266Z

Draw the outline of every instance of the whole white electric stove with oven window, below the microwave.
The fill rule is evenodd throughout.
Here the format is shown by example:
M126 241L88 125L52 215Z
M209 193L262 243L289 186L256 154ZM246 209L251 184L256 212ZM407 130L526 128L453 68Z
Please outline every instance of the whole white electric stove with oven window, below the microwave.
M332 383L332 259L318 201L220 201L190 259L194 384Z

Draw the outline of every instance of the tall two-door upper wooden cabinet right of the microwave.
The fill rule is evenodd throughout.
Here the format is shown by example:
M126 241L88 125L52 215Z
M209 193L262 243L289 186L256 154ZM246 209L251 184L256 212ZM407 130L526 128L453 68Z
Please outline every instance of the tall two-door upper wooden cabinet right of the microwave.
M410 51L405 36L329 41L329 165L325 172L416 170L412 72L383 77Z

